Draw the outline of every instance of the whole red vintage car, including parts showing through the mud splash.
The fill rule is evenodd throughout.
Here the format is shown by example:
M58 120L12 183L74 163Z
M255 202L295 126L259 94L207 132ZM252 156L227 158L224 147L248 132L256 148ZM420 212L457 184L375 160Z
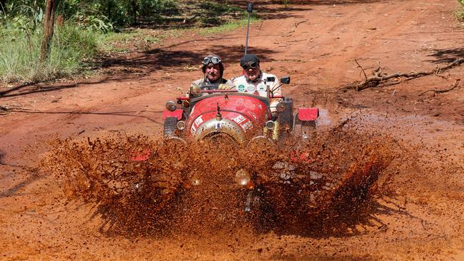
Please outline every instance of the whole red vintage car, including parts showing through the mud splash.
M273 78L268 80L273 81ZM290 77L281 78L281 84L288 83L290 83ZM271 112L270 107L273 98L282 100L276 105L276 109L272 110L275 113ZM292 98L275 96L271 90L267 90L267 96L258 96L247 90L218 90L218 86L211 85L203 86L197 92L190 90L188 97L178 97L177 102L166 103L166 111L163 113L163 135L167 148L172 147L173 151L185 152L188 150L183 149L184 146L208 140L217 142L219 148L221 143L227 143L256 151L256 147L252 148L253 146L264 148L270 145L276 148L281 141L291 136L308 140L313 136L311 133L314 131L317 118L318 108L294 110ZM291 149L291 151L292 161L308 160L308 155L298 148ZM150 154L150 150L144 150L137 153L132 160L147 160ZM173 157L176 158L176 155ZM179 156L178 158L188 157ZM192 164L203 163L192 162ZM291 169L287 168L291 165L292 163L280 161L268 165L271 170L276 170L277 179L283 181L278 182L281 184L281 191L291 189L291 183L288 181L291 174L289 175L288 171L284 170L285 168ZM266 182L258 178L259 170L246 168L239 164L234 165L230 170L233 174L227 175L226 179L221 179L218 173L211 175L210 170L206 168L201 168L198 173L188 173L181 191L188 193L196 189L207 189L204 187L204 185L208 186L205 180L213 179L213 183L218 183L217 186L213 185L213 190L217 190L216 188L220 188L221 185L231 188L229 193L233 194L230 195L236 195L239 198L238 201L236 200L239 205L238 209L251 213L251 216L257 217L257 220L262 220L263 216L260 213L266 209L268 188L266 188ZM198 174L200 177L197 176ZM266 175L273 174L266 173ZM211 182L209 184L211 185ZM205 195L206 200L211 197L211 193L201 193L201 195Z

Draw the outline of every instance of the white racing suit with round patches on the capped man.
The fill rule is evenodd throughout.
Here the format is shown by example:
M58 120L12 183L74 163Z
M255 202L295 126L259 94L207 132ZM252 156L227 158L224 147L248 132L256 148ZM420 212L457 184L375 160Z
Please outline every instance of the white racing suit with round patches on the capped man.
M261 76L259 76L256 81L250 81L244 75L232 78L231 81L233 85L235 85L237 91L241 93L254 93L255 95L267 97L267 90L269 88L274 96L281 96L281 82L271 73L264 73L261 71ZM271 98L270 106L272 113L276 111L276 105L281 101L282 98Z

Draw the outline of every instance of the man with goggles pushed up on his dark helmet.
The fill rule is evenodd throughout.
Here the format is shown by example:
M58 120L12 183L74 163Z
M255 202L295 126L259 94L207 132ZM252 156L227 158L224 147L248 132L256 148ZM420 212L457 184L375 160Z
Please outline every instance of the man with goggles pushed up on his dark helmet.
M199 91L202 87L209 85L214 86L211 89L220 90L226 90L233 87L233 83L231 81L227 81L226 79L222 78L224 73L224 66L219 56L216 54L209 54L203 58L202 63L203 66L201 67L201 71L203 71L204 77L193 81L191 84L193 91Z

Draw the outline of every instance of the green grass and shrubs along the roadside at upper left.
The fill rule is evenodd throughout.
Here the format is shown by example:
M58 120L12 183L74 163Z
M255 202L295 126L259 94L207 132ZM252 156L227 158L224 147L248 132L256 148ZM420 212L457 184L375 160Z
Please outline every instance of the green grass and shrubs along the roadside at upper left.
M146 51L186 30L207 36L246 25L244 6L227 1L58 1L51 51L41 62L45 4L0 0L0 86L79 77L101 54Z

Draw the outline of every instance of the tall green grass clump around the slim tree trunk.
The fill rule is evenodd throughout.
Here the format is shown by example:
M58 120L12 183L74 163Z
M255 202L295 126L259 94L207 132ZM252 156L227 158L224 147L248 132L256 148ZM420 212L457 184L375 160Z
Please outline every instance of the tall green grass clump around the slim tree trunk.
M0 80L39 82L75 75L97 51L96 33L72 24L56 26L49 58L39 62L42 29L19 19L0 26Z

